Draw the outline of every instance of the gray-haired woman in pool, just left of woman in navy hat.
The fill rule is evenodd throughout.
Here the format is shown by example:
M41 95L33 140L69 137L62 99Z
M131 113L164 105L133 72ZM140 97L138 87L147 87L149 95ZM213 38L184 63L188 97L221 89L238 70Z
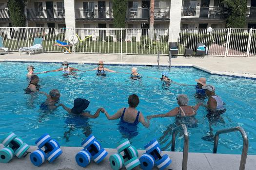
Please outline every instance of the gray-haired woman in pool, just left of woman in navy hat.
M42 102L41 105L39 106L40 109L42 110L54 110L58 106L56 105L59 102L59 97L60 93L58 89L53 89L50 91L49 95L44 92L40 92L42 94L45 94L47 97L45 102Z

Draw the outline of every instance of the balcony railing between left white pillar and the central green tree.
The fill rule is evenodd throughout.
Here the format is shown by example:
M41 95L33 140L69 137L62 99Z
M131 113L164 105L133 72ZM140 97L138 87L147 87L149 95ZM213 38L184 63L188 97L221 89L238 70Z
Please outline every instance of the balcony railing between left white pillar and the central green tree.
M110 20L112 9L76 9L76 20Z

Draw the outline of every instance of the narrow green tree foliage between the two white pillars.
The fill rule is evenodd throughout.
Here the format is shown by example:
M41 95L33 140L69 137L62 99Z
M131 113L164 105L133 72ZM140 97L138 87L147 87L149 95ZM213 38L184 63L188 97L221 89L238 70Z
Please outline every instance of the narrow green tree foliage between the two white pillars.
M113 17L115 28L125 28L125 18L128 0L113 0Z

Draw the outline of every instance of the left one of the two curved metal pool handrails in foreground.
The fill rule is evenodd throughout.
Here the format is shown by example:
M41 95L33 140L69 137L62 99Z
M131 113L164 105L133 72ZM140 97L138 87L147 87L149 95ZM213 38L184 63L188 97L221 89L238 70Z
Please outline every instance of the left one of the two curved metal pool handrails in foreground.
M184 136L182 170L187 170L187 166L188 166L188 130L187 130L187 126L185 124L181 124L173 129L171 151L172 152L175 151L175 137L178 132L181 132L181 130L183 130L183 136Z

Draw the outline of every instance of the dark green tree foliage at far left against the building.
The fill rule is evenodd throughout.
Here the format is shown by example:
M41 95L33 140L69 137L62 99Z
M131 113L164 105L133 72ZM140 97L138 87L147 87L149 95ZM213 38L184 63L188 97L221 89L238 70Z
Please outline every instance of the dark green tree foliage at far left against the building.
M8 0L8 9L13 27L25 27L26 17L24 15L27 0Z

